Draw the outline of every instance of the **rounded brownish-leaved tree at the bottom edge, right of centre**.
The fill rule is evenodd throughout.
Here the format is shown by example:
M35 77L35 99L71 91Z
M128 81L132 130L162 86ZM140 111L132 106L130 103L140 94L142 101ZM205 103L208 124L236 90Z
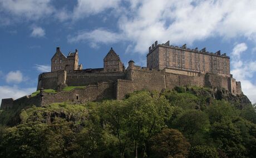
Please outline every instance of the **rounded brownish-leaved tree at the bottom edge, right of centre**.
M151 149L157 157L186 157L190 144L183 134L175 129L163 129L151 138Z

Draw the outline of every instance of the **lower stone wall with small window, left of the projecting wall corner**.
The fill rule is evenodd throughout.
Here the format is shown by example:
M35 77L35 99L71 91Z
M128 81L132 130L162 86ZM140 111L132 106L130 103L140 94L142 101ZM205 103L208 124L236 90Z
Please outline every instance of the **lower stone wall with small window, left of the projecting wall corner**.
M115 99L114 83L104 82L99 85L88 85L86 88L75 88L71 91L61 91L57 94L43 93L42 106L63 101L84 103L100 99Z

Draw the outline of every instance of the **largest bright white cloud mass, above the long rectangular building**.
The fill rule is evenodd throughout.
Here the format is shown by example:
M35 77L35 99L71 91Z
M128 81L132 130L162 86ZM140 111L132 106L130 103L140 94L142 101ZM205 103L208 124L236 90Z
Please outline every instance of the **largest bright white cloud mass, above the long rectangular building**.
M80 1L77 8L80 5L90 6L89 2L91 3L91 1ZM126 2L130 4L129 7L115 3L122 8L117 9L119 30L117 33L109 33L120 34L125 37L120 40L132 42L135 45L132 52L146 53L147 48L155 40L192 44L195 40L216 36L256 39L256 22L252 20L256 17L254 0L127 0ZM88 11L82 9L81 12L78 10L80 17L86 16L87 12L92 12L91 9ZM95 9L96 13L102 11L104 9L102 10L100 6ZM97 29L91 30L91 33L94 31ZM105 34L107 32L105 29ZM91 38L83 38L83 40L91 40ZM104 43L99 40L100 42Z

